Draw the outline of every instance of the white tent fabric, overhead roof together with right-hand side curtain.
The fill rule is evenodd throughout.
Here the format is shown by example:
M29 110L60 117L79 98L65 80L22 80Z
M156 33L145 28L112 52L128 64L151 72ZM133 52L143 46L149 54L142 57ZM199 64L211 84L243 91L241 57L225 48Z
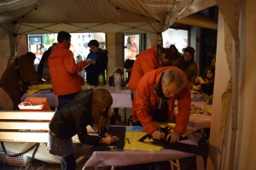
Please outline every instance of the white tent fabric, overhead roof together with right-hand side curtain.
M218 101L223 91L218 90L217 87L214 89L218 90L218 95L214 94L213 100L212 111L215 111L215 115L212 115L210 137L212 147L207 169L255 169L254 139L256 135L253 130L256 128L256 108L253 102L255 102L256 79L253 73L256 71L254 64L256 42L253 32L256 2L254 0L217 0L217 3L224 19L224 24L219 25L218 28L225 33L222 37L218 36L218 52L221 48L223 48L222 51L224 48L226 50L222 54L219 53L217 61L229 55L227 63L230 64L229 59L235 63L232 67L227 66L228 69L226 69L233 75L231 108L234 113L232 115L235 117L233 119L235 123L232 126L235 135L233 137L230 133L224 133L224 139L227 142L223 145L225 147L220 148L218 145L219 122L224 113L218 109L221 107ZM216 5L214 0L1 0L0 30L17 35L61 30L156 33L165 31L177 20L184 20L190 14L213 5ZM228 37L228 31L231 38ZM227 43L229 41L231 45ZM216 72L220 72L216 78L224 74L221 65L216 69ZM228 81L229 78L219 79L222 85ZM230 116L226 121L229 120ZM231 126L226 128L231 129ZM228 141L231 139L230 136L235 143ZM223 150L225 148L227 150Z

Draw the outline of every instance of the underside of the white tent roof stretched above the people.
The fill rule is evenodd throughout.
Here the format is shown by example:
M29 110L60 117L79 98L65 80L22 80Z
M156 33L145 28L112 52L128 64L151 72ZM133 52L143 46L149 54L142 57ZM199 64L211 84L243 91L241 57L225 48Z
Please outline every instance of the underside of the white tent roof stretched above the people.
M0 28L9 33L165 31L214 0L2 0Z

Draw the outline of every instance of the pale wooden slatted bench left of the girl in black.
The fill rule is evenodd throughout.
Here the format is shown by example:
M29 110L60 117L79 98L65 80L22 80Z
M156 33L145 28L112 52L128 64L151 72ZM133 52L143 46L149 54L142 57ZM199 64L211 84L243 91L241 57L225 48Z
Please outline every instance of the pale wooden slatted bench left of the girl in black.
M0 111L0 141L48 142L54 111ZM73 137L79 143L78 136Z

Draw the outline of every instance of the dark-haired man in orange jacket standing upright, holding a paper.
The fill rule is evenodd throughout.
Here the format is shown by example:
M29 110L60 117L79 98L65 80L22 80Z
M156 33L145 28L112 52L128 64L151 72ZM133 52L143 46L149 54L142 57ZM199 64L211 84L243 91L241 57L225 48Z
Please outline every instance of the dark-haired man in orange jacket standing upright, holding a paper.
M73 52L69 50L71 35L67 31L58 33L58 44L48 59L49 75L55 95L58 96L58 108L72 100L84 85L84 78L79 76L84 66L95 64L93 59L75 63Z

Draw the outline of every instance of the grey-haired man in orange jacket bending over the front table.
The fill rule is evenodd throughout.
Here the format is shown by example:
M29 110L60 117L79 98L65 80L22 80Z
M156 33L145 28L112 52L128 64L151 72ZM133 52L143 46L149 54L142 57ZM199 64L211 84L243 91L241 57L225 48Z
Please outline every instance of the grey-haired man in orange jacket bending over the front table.
M178 113L174 113L177 99ZM191 110L191 96L186 74L174 66L149 71L137 86L132 103L133 125L142 125L153 139L178 142L186 130ZM162 133L153 121L173 122L174 132Z

